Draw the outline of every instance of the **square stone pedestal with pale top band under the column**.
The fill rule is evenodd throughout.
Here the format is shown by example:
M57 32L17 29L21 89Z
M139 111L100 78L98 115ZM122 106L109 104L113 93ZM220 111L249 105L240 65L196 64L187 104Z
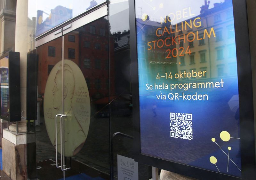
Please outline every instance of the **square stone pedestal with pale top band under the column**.
M36 177L35 133L14 133L3 130L3 170L11 179L27 180Z

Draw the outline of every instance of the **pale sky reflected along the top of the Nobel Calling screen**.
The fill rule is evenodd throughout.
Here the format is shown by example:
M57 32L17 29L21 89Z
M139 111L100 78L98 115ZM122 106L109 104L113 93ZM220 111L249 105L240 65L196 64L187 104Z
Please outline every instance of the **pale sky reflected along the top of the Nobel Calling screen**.
M204 5L204 0L197 0L196 3L195 1L192 0L178 0L178 1L172 1L172 5L170 4L170 0L161 0L161 1L156 1L156 0L140 0L136 1L136 18L141 17L142 14L146 13L149 17L150 20L152 21L160 21L160 17L164 17L165 15L168 15L169 13L175 13L176 11L182 11L184 8L189 8L191 7L191 13L194 13L195 16L200 14L200 6L198 4ZM224 0L211 0L209 9L213 8L214 3L220 3L224 2ZM164 4L164 8L159 8L160 4ZM208 0L207 0L208 3ZM168 8L165 6L165 4L168 4ZM184 6L186 4L186 6ZM154 10L154 7L156 8ZM188 18L182 18L178 22L181 22L183 20L186 20ZM178 23L177 21L173 21L172 24Z

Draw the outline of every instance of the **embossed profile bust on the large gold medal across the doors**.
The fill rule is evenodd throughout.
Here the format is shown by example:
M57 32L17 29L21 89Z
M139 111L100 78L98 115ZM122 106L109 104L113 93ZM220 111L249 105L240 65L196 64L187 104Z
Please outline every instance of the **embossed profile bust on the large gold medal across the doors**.
M63 121L65 139L64 150L66 156L73 156L82 149L86 135L73 113L72 99L75 91L75 77L68 64L64 64L63 77L64 114L67 114L67 117ZM62 66L59 67L56 73L54 83L55 85L52 90L52 107L62 112ZM53 144L55 144L55 140ZM60 150L60 125L58 125L58 150Z

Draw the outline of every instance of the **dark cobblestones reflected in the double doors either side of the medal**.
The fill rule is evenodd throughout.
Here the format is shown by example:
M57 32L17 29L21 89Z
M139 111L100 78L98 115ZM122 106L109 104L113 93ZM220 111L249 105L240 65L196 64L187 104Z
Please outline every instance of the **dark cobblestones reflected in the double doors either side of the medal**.
M97 123L94 121L97 121ZM42 124L36 127L37 162L55 159L55 148L48 137L43 118L41 118L41 122ZM84 147L72 159L77 159L109 174L108 137L108 119L91 120L90 130Z

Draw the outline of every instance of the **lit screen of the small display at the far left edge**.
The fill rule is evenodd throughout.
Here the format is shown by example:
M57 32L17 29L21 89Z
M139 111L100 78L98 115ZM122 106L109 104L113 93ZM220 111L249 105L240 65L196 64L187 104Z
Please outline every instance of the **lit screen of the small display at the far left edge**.
M8 56L0 60L1 116L10 118Z

